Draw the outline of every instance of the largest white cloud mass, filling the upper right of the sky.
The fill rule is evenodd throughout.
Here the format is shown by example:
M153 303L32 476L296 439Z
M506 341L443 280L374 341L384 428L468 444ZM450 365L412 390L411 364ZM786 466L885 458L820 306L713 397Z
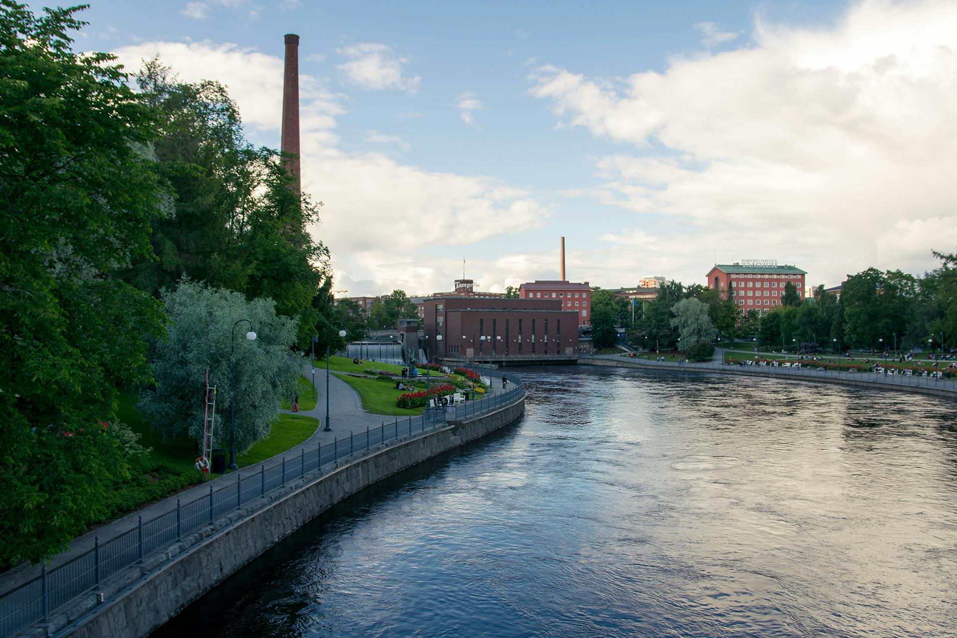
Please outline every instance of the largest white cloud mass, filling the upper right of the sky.
M921 270L957 231L954 24L952 2L871 0L828 28L758 21L752 46L620 82L539 67L530 94L640 151L566 194L642 213L673 251L757 251L814 281Z

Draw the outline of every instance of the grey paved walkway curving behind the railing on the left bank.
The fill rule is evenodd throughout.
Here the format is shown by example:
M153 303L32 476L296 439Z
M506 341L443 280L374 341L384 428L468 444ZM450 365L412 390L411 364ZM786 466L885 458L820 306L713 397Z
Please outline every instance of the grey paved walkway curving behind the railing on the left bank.
M311 369L312 368L309 366L309 364L306 363L302 371L302 376L308 380L311 380ZM492 394L497 394L499 392L501 392L501 387L493 387L493 391L487 396L491 396ZM177 498L186 503L201 496L209 495L210 486L212 486L213 490L218 490L223 487L234 485L236 481L235 474L237 473L240 474L245 481L247 478L258 476L260 465L264 464L266 467L270 467L278 463L283 456L285 456L287 460L299 458L302 450L315 451L317 446L331 444L335 439L338 439L339 441L347 440L349 438L350 431L355 431L355 433L358 435L360 431L365 432L367 428L378 428L383 422L391 423L396 418L383 416L380 414L371 414L365 411L362 408L362 401L359 398L359 394L352 388L351 385L346 384L343 380L337 377L335 370L333 370L329 374L329 425L332 428L332 431L325 432L323 431L323 427L325 425L324 367L316 367L316 396L317 401L316 407L314 409L307 411L300 410L300 412L298 412L299 414L310 416L318 420L318 428L316 429L315 433L313 433L312 436L310 436L300 445L287 451L278 453L276 456L266 459L261 464L241 468L234 473L226 473L216 476L212 480L191 487L177 495L169 496L163 500L146 505L136 512L128 514L124 517L104 523L99 527L90 530L86 534L83 534L77 539L74 539L70 543L70 549L57 554L47 566L47 569L52 569L57 565L60 565L66 561L70 561L78 554L82 554L83 552L93 549L96 537L100 537L100 541L112 539L115 536L135 528L137 526L138 518L141 516L144 520L148 520L150 518L158 517L161 514L175 510ZM292 413L290 410L281 411L285 413ZM220 420L216 424L216 428L219 429L220 432L228 432L229 421ZM24 563L14 567L6 573L0 574L0 593L9 591L13 587L16 587L22 583L26 583L39 575L40 565Z

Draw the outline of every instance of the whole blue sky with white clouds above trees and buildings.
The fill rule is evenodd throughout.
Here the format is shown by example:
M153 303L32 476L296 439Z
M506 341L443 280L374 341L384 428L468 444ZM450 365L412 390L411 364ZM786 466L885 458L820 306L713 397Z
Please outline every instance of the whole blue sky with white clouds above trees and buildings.
M91 0L80 51L229 88L302 185L339 297L567 278L835 285L957 250L957 2ZM347 291L347 292L346 292Z

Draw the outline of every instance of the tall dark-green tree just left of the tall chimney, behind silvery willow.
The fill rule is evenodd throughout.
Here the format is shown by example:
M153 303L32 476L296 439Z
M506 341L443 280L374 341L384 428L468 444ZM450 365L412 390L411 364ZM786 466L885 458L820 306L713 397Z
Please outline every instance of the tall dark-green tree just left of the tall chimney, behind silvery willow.
M279 314L299 319L307 339L323 306L314 297L331 275L327 250L306 231L322 205L296 190L277 151L245 140L238 109L218 82L180 83L154 58L138 83L161 119L153 150L175 189L176 214L153 222L159 258L141 259L121 276L152 295L189 276L271 298ZM331 305L325 310L327 322Z

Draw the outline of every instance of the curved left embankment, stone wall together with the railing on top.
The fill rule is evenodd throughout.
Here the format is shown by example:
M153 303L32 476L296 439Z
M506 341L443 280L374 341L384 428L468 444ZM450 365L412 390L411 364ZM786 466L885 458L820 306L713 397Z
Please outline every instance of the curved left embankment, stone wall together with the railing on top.
M100 543L95 539L94 550L78 557L83 559L87 575L93 572L87 569L90 566L87 563L95 562L95 585L91 577L89 584L80 583L75 594L64 598L63 592L50 591L50 579L44 572L41 579L31 583L31 587L8 592L0 608L0 619L10 627L17 616L38 613L42 607L44 615L46 609L50 609L49 620L27 628L21 635L145 635L234 569L255 558L338 499L521 417L524 391L517 379L513 387L515 389L511 392L496 394L484 401L468 402L468 406L457 409L458 414L450 408L448 413L442 411L413 417L408 423L395 421L376 428L367 425L358 433L350 429L345 439L333 440L324 447L317 443L311 450L303 448L299 454L287 454L281 466L268 469L260 466L259 472L248 476L243 476L240 471L221 477L232 481L231 484L185 503L182 510L177 501L172 512L151 521L159 524L162 528L160 535L168 538L161 542L159 551L147 549L144 552L142 549L145 538L153 541L152 546L156 547L155 528L146 529L149 523L142 525L139 532L134 523L132 529L113 539L120 543L119 549L114 548L119 554L114 551L112 558L103 556ZM345 394L356 400L351 389ZM479 413L466 418L466 409L469 412L479 410ZM376 418L376 415L361 413L366 423ZM341 423L339 420L335 425ZM347 468L351 469L344 473ZM300 495L303 491L311 496ZM278 506L278 503L286 505ZM290 503L292 510L287 509ZM247 532L231 531L240 528L247 529ZM255 532L250 534L248 530L254 528ZM220 537L229 539L227 545L213 541ZM201 549L203 547L210 549ZM189 558L196 553L199 558ZM180 561L184 561L187 567L173 566ZM57 572L62 573L62 570ZM91 585L94 585L92 589ZM158 594L158 590L166 593ZM76 600L54 611L57 605L70 601L77 594L81 595ZM170 607L171 604L174 606ZM20 627L23 627L22 623ZM0 635L11 635L11 632L0 631Z

